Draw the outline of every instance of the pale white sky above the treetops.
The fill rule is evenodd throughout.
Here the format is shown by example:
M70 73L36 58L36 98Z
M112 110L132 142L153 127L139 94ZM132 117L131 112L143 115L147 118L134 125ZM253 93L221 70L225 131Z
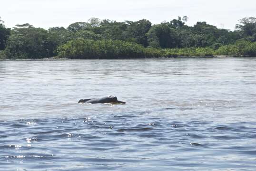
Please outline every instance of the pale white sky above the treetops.
M0 17L9 28L24 23L68 27L92 17L158 24L185 15L191 26L206 21L233 30L238 19L256 17L256 0L0 0Z

